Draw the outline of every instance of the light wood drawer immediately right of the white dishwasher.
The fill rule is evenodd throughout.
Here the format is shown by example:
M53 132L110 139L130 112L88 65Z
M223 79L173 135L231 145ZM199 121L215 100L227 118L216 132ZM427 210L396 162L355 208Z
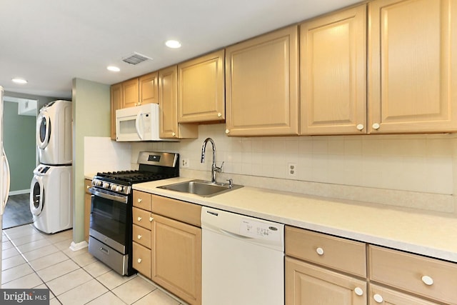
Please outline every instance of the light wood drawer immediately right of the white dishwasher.
M286 226L286 255L366 277L366 246L361 242Z

